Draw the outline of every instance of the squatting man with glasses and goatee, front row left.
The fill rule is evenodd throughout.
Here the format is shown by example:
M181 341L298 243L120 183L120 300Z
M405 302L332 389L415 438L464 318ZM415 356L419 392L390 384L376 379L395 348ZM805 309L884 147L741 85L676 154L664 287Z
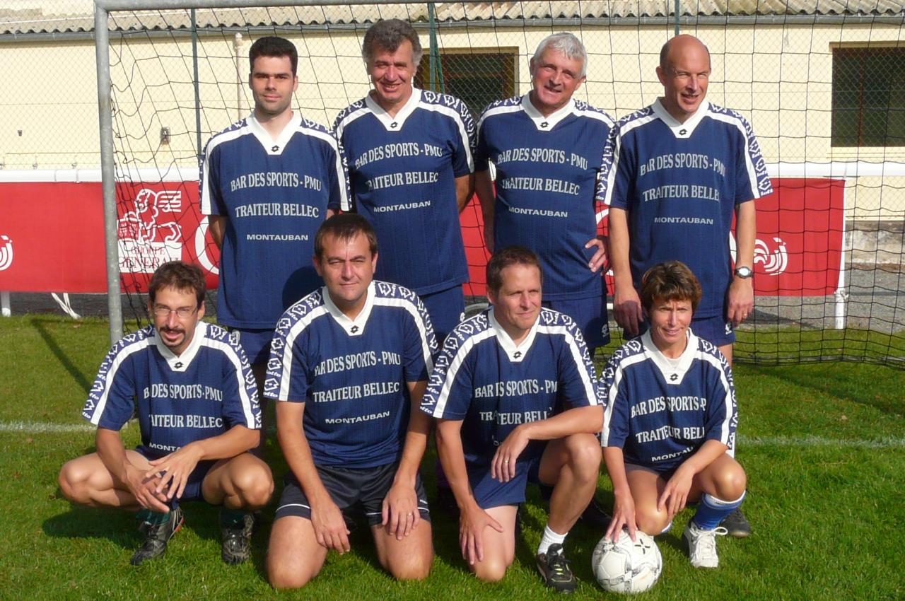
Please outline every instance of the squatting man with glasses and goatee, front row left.
M224 506L222 556L251 554L252 515L271 498L270 468L252 454L261 412L251 367L224 329L205 316L205 276L181 261L148 285L154 325L121 339L104 359L82 415L98 426L97 453L62 466L70 501L138 510L138 566L162 556L183 524L181 501ZM141 444L126 450L119 429L138 404Z

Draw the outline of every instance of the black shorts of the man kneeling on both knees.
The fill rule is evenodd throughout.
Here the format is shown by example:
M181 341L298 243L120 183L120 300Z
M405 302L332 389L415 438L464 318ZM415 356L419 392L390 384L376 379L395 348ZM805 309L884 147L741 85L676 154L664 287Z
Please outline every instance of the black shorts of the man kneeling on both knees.
M371 526L377 526L383 521L384 498L393 486L393 479L398 468L398 463L360 469L337 465L317 466L320 482L323 482L324 488L330 494L330 499L343 512L346 521L351 521L352 513L364 513L367 523ZM421 519L430 521L431 513L427 507L427 495L424 493L420 473L415 477L414 492L418 497ZM273 519L279 520L287 516L311 519L308 497L305 496L305 491L301 490L299 481L291 471L286 472L283 477L280 505L277 507Z

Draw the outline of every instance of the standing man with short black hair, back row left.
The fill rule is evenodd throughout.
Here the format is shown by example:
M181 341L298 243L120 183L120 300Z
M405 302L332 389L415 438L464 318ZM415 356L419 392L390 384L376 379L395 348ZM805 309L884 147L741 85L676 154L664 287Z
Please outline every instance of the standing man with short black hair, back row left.
M201 212L221 251L217 321L239 339L260 389L277 320L321 283L306 257L318 225L348 209L348 185L336 138L291 109L295 46L262 37L249 59L254 111L207 143Z

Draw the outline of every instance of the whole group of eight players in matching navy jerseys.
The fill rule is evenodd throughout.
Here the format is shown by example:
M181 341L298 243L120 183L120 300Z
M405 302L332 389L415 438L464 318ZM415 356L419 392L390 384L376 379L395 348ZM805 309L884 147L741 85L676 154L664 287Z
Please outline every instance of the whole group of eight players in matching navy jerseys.
M573 98L587 53L572 33L545 38L531 90L477 121L462 100L414 87L422 54L410 24L372 25L362 57L373 91L327 129L291 108L295 46L252 44L254 110L211 138L201 171L222 251L219 326L203 321L200 269L157 269L153 325L104 360L83 412L97 451L63 466L63 495L138 510L137 566L166 553L184 503L222 506L222 558L241 563L274 491L261 459L272 402L289 466L267 547L272 587L303 587L330 551L348 552L355 512L381 568L429 577L420 469L434 435L437 495L480 580L514 561L529 483L549 499L536 552L547 587L575 590L566 540L583 516L631 550L689 503L691 565L717 568L717 535L750 531L731 349L753 306L754 201L771 189L748 122L706 100L710 52L691 35L664 44L663 96L619 123ZM458 217L474 193L490 306L465 320ZM611 206L609 244L598 201ZM598 374L607 257L631 339ZM133 413L142 443L127 450L118 432ZM602 459L612 517L591 504ZM603 582L642 590L631 569ZM659 575L647 569L645 587Z

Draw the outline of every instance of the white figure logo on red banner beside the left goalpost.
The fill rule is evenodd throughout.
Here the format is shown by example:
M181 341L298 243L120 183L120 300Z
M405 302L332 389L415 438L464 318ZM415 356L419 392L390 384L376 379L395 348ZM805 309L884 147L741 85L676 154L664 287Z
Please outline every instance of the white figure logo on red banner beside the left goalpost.
M182 190L142 188L117 222L119 271L153 273L160 265L182 258Z

